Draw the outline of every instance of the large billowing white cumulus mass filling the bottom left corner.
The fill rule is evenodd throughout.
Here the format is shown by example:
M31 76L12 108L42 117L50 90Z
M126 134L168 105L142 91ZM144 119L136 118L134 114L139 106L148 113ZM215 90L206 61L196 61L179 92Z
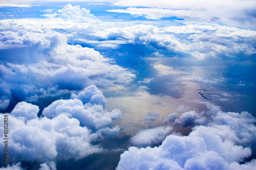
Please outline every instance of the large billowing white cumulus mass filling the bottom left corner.
M78 160L103 151L100 145L93 145L92 142L118 133L120 128L112 127L111 123L121 116L121 111L115 109L108 112L104 96L94 85L77 95L73 94L72 98L53 102L42 112L44 116L39 118L38 106L26 102L18 103L8 113L9 124L15 125L10 126L8 132L12 153L10 162L47 163L55 169L58 160ZM47 165L42 164L41 168Z

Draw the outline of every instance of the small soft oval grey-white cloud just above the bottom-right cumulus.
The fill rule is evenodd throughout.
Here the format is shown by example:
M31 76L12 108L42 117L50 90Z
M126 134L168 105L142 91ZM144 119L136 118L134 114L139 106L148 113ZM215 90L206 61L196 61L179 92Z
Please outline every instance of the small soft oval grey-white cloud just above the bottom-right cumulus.
M131 143L137 147L153 146L161 143L170 133L171 127L157 127L139 131L131 138Z

